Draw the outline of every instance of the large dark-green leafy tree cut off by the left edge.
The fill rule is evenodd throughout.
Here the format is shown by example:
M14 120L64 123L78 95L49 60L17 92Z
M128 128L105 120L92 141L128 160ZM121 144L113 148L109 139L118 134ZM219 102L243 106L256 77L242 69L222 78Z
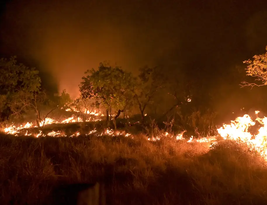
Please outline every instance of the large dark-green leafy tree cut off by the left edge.
M27 107L27 103L21 103L27 98L20 99L21 96L38 93L41 86L39 71L28 68L23 64L17 64L16 56L9 60L0 59L0 111L6 110L10 114L20 115L21 111Z

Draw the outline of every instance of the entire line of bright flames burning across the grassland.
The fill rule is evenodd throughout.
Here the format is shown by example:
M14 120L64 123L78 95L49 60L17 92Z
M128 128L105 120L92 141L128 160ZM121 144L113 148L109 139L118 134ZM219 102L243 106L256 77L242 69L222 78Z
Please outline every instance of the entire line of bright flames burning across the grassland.
M243 142L247 143L250 147L252 147L254 150L258 151L261 156L263 156L267 160L267 117L259 118L258 114L259 111L255 111L256 115L256 120L253 121L249 115L244 115L243 117L237 117L234 121L231 121L230 124L223 124L223 126L219 129L217 129L219 136L223 140L230 139L233 141L237 142ZM86 111L86 114L88 115L95 115L95 116L103 116L102 113L100 112L91 112L91 111ZM84 119L80 117L75 117L72 115L72 117L69 117L65 120L58 121L52 118L46 118L44 122L42 122L40 125L46 125L46 124L53 124L53 123L71 123L71 122L81 122ZM100 119L94 119L92 117L89 117L85 119L84 121L89 122L89 121L97 121ZM249 127L254 126L256 124L256 121L261 124L261 127L259 128L257 134L251 134L249 132ZM27 122L24 125L20 125L16 127L14 124L12 124L9 127L6 127L4 129L4 132L7 134L12 134L15 136L18 136L18 134L22 133L22 129L29 129L37 127L34 126L32 123ZM160 140L164 137L169 137L169 138L174 138L176 140L185 140L184 138L184 133L186 130L182 131L180 134L177 134L174 136L173 134L169 134L168 132L165 133L160 133L157 134L156 136L152 135L151 137L148 138L150 141L157 141ZM109 136L131 136L129 133L125 133L125 131L114 131L112 129L105 129L101 133L96 131L96 129L93 129L89 131L86 135L91 135L94 134L96 136L103 136L103 135L109 135ZM44 134L42 131L39 131L37 134L33 134L32 132L30 133L29 130L24 131L24 135L26 136L35 136L35 137L43 137L43 136L54 136L54 137L60 137L60 136L66 136L63 134L61 131L51 131L48 134ZM71 137L74 136L79 136L80 133L76 132L75 134L72 134ZM134 138L134 136L131 136ZM188 143L211 143L212 145L216 144L216 136L209 136L209 137L203 137L201 139L194 139L193 136L190 137L189 140L187 140Z

